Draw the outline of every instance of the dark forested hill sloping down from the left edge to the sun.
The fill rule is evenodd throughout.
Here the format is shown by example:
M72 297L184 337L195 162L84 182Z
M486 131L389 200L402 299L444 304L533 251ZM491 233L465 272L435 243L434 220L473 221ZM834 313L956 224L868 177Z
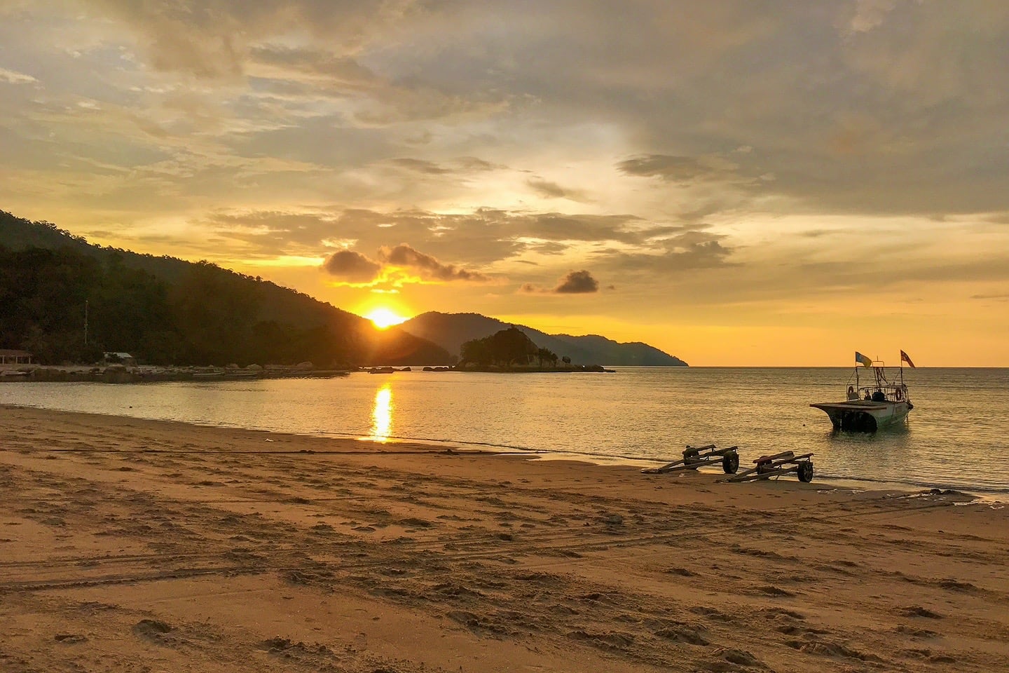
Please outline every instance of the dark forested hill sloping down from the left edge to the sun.
M85 310L88 339L85 344ZM448 364L445 349L206 261L91 245L0 211L0 348L43 363Z

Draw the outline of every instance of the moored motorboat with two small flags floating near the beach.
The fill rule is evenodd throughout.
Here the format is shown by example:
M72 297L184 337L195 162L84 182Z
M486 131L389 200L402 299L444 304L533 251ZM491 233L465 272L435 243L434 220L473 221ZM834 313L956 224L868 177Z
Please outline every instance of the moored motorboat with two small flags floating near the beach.
M834 430L845 432L876 432L899 425L907 420L914 405L904 383L904 362L911 367L911 358L900 351L900 368L893 380L886 364L856 352L855 383L848 386L844 402L823 402L809 405L826 413ZM873 376L863 382L859 370L871 368Z

